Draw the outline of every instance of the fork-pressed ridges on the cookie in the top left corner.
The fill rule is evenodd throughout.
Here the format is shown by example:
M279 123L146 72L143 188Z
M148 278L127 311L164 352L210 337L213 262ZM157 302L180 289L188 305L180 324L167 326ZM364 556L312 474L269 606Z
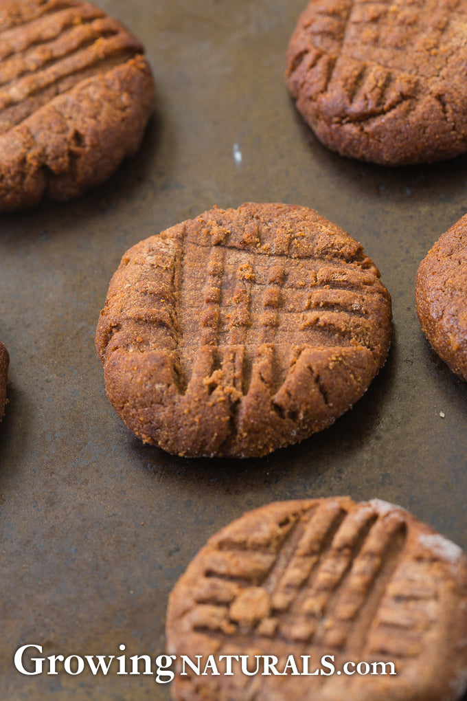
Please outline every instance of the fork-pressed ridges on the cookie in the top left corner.
M0 48L0 133L83 79L111 71L143 49L97 8L53 4L26 24L4 31Z

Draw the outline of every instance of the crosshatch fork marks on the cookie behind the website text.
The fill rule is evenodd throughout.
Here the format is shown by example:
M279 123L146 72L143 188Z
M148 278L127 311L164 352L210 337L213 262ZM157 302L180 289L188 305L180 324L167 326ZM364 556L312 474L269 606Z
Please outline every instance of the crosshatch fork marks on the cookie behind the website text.
M221 571L218 566L206 571L210 582L206 592L213 589L213 579L236 589L230 591L228 601L215 604L200 582L197 600L202 606L193 629L215 637L220 634L219 640L227 635L229 644L272 636L298 646L317 646L329 654L361 653L405 542L405 522L397 515L384 519L370 508L349 514L333 501L296 518L269 567L272 555L267 546L249 552L237 550L235 542L229 549L224 542L218 566L224 564ZM229 557L237 563L230 574ZM247 601L249 592L258 601L268 597L265 615L249 622L247 615L244 622L230 618L235 596ZM215 621L207 624L212 605L218 611Z

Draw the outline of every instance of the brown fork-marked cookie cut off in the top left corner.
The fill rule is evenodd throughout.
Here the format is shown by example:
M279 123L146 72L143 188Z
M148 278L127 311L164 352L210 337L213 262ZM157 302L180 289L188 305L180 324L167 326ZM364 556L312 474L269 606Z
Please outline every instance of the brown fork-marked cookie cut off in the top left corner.
M153 106L139 41L81 0L0 0L0 32L0 212L104 182Z

